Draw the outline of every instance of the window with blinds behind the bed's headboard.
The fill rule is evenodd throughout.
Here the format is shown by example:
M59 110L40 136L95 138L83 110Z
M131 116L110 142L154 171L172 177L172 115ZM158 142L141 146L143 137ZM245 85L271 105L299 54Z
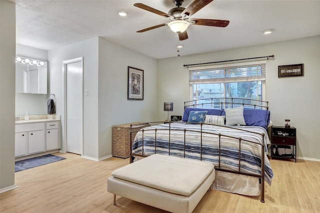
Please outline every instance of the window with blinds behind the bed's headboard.
M265 84L265 63L246 62L190 68L189 84L194 104L211 102L210 98L244 98L261 101ZM208 100L199 100L206 98ZM216 100L213 106L203 107L221 108L219 102L221 101Z

